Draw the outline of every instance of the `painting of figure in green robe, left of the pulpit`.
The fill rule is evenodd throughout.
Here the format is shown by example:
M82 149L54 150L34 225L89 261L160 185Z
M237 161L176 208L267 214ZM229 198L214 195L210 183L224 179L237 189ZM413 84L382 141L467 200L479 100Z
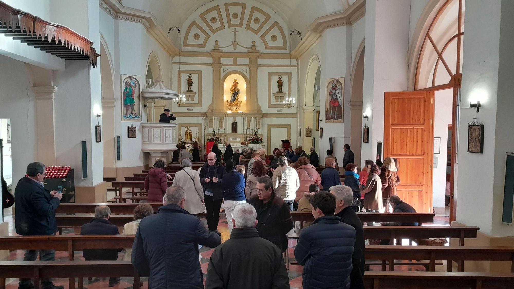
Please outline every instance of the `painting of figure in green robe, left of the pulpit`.
M122 121L141 121L140 78L121 75Z

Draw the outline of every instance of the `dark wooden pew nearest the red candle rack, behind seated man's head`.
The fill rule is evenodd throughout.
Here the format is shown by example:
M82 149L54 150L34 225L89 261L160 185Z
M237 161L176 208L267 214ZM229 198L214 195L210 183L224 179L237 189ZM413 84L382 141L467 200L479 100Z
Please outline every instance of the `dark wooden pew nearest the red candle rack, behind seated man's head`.
M148 203L154 211L162 206L162 203ZM99 205L106 205L111 209L111 214L133 214L139 203L61 203L56 213L94 213L95 208Z

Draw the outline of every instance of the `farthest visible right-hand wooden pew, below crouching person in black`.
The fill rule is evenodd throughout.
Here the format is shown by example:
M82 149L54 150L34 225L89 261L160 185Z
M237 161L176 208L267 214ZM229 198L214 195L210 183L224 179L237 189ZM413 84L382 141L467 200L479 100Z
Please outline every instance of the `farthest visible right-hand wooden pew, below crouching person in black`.
M434 221L433 213L363 213L358 212L362 222L402 222L402 223L431 223ZM292 220L300 222L300 229L303 222L313 222L314 217L310 211L291 211Z

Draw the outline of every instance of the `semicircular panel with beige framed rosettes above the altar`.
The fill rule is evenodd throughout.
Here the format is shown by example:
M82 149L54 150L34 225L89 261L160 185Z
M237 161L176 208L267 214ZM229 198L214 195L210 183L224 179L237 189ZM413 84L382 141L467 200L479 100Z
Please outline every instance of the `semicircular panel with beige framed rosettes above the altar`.
M256 1L223 3L215 0L198 8L184 23L182 49L241 52L287 52L288 28L277 13ZM287 36L286 36L287 35Z

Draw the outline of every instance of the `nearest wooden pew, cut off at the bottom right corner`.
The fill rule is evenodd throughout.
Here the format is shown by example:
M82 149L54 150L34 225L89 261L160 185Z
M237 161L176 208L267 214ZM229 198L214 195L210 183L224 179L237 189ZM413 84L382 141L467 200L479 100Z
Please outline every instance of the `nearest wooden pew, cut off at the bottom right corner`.
M514 288L512 273L366 271L364 285L373 289Z

